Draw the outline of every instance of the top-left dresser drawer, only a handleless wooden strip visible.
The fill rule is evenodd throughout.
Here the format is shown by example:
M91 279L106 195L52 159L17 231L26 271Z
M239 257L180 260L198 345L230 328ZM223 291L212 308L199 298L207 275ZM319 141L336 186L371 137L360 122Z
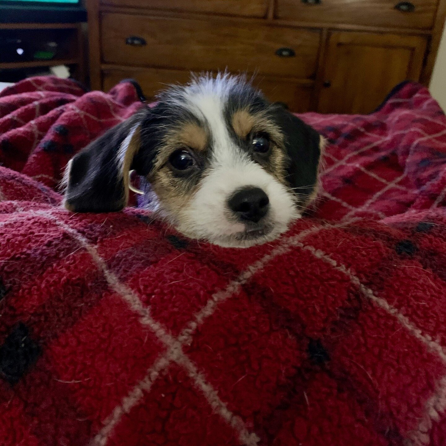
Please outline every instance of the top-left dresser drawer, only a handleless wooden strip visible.
M103 0L103 4L166 11L206 12L229 16L264 17L267 0Z

